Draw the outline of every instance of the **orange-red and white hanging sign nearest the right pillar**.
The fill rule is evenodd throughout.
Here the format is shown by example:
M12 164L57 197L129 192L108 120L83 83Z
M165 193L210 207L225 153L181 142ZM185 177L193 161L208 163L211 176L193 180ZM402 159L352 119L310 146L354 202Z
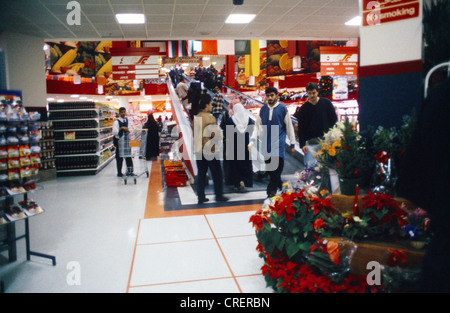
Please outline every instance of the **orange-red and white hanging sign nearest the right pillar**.
M358 47L320 47L320 75L358 74Z

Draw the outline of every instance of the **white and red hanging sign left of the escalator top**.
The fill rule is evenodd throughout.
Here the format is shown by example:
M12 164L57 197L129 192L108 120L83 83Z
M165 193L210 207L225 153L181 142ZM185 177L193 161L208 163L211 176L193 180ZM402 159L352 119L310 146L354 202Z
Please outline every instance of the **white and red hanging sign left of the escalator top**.
M159 78L159 56L113 56L113 80Z

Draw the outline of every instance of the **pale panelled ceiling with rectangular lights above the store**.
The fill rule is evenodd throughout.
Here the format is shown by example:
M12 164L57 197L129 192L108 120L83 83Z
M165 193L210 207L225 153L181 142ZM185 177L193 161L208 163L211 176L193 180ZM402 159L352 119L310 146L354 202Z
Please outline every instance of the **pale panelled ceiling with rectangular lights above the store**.
M77 0L81 25L68 25L70 0L0 0L0 31L46 40L322 39L347 40L359 27L358 0ZM144 13L145 25L119 25L116 13ZM253 13L250 24L225 24Z

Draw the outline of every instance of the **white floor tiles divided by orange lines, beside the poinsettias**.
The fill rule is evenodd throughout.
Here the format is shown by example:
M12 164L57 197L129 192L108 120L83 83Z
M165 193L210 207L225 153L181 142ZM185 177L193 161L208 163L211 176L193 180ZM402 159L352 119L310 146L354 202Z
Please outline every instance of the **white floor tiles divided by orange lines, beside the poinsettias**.
M129 292L271 292L251 214L141 220Z

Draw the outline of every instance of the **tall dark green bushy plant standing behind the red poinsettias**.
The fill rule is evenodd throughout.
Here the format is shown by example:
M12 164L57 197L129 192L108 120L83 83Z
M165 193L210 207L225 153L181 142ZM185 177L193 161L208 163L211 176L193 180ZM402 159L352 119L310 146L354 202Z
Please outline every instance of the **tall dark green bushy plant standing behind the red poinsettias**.
M343 124L341 147L336 152L336 172L339 175L341 193L354 195L356 185L360 184L368 157L365 140L357 131L356 123L348 119Z

